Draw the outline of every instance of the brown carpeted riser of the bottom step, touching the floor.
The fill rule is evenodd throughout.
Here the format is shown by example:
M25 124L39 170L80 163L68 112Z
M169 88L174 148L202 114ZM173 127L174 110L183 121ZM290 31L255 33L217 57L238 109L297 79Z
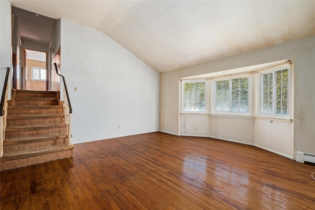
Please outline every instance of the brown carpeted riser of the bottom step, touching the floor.
M39 163L46 163L49 161L60 160L63 158L70 158L73 156L74 146L68 146L66 150L45 153L40 155L22 157L19 159L10 159L9 157L2 157L0 161L0 171L17 169L21 167L31 166ZM6 160L8 159L8 160Z

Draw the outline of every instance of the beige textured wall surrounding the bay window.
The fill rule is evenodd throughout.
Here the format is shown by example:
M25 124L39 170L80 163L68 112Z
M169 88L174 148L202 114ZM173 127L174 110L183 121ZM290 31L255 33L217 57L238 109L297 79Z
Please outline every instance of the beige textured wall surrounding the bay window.
M179 113L179 79L294 58L293 122ZM162 132L210 136L258 146L295 159L315 154L315 35L160 74ZM196 124L196 129L194 125Z

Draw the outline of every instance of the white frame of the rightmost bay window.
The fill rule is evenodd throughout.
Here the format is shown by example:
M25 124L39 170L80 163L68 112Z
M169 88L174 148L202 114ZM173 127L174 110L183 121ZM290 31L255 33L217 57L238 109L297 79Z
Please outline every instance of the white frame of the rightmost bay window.
M288 70L287 73L287 114L277 114L276 113L276 77L275 72L279 70ZM257 91L258 91L258 97L257 97L257 114L260 117L267 117L267 118L274 118L274 119L291 119L291 101L290 101L290 95L291 93L291 87L290 87L290 80L291 80L291 65L290 64L284 64L277 67L269 68L266 70L258 71L257 76ZM263 75L272 73L272 113L263 113Z

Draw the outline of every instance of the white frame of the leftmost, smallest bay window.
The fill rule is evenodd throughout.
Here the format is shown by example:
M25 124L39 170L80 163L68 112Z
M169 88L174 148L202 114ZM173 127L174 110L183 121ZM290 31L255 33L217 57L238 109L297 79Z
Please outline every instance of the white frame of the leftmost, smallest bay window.
M198 82L204 82L205 83L205 110L204 111L187 111L184 110L185 107L185 83L198 83ZM184 114L208 114L209 108L208 108L208 79L183 79L182 80L182 105L181 105L181 113Z

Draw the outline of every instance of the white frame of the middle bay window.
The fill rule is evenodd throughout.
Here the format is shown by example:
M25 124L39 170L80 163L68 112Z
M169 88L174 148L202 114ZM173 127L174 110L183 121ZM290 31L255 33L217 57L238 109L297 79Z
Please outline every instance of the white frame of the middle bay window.
M248 111L247 112L233 112L231 111L231 80L238 78L248 78ZM216 82L229 80L229 111L216 111ZM252 75L251 73L237 73L234 75L225 75L221 77L211 78L211 113L218 115L241 115L241 116L251 116L252 115Z

